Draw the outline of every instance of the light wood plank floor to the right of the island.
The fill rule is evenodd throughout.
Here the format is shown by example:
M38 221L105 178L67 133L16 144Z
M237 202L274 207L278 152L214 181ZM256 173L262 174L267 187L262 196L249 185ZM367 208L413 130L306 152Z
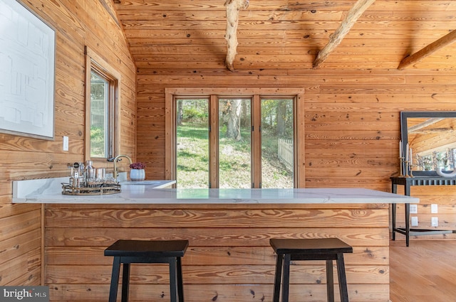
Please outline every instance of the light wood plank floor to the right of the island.
M391 241L390 300L456 301L456 241Z

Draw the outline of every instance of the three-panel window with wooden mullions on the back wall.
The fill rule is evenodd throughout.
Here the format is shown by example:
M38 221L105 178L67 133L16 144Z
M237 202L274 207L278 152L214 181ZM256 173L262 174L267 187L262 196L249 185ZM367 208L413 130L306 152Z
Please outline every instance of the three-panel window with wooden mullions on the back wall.
M294 98L176 98L177 188L294 188Z

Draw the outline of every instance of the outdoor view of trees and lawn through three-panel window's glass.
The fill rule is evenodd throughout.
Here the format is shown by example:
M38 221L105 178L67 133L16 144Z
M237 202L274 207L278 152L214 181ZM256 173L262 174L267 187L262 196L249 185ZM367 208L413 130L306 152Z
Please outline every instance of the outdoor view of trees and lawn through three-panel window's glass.
M219 99L218 106L219 188L252 188L251 99ZM209 99L177 99L176 112L177 188L209 188ZM279 156L279 139L288 155ZM293 99L262 99L262 188L293 188L293 139Z

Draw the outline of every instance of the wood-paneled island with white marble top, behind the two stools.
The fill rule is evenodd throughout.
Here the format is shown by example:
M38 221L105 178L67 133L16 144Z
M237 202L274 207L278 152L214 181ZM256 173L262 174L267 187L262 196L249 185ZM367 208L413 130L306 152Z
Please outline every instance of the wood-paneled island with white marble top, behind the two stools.
M388 302L389 204L419 202L359 188L130 187L110 196L41 193L16 200L44 204L51 301L107 301L112 259L103 251L117 239L188 239L182 259L186 302L271 301L270 238L338 237L353 246L346 254L350 301ZM166 266L140 264L131 273L130 301L169 301ZM291 266L290 301L325 299L323 261Z

